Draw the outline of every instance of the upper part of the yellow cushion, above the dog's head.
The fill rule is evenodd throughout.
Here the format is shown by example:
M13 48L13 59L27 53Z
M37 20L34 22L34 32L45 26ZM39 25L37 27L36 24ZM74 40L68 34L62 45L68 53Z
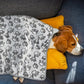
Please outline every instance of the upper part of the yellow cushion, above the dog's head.
M52 26L54 28L59 28L59 26L63 26L64 25L64 16L63 15L59 15L57 17L43 19L41 21L46 23L46 24L49 24L50 26Z

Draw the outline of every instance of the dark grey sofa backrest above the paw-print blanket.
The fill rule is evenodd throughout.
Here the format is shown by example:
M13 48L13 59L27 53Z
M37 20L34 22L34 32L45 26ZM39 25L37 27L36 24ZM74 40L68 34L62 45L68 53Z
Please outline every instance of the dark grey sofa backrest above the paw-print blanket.
M38 19L55 16L63 0L0 0L0 15L29 15Z

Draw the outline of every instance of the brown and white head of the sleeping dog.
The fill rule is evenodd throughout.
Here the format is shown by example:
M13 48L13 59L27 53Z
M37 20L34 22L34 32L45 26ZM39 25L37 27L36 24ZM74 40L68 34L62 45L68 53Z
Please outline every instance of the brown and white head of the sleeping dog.
M69 25L59 27L59 32L54 33L52 41L54 47L62 53L66 51L73 55L82 53L83 47L78 43L72 27Z

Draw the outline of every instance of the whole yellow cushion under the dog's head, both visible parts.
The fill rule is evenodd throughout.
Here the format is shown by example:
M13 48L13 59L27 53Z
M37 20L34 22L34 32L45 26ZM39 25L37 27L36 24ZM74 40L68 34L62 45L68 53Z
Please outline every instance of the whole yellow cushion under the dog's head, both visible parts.
M62 15L43 19L42 22L59 28L64 25L64 17ZM67 69L66 57L56 49L48 49L47 52L47 69Z

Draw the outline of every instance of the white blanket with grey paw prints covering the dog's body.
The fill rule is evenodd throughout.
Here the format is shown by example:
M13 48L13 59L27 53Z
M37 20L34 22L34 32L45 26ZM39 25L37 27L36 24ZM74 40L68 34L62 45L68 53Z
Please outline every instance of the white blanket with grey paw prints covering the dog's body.
M0 74L44 80L52 33L30 16L0 16Z

